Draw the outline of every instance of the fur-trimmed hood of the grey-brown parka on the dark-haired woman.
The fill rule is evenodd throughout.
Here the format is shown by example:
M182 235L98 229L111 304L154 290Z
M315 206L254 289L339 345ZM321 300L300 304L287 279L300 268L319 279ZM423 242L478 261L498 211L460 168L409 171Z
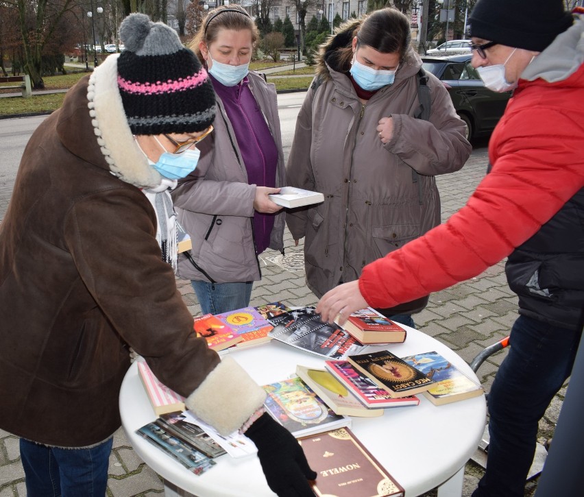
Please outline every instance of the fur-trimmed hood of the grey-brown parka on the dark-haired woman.
M321 81L329 81L332 79L330 70L339 73L346 73L350 69L350 65L341 66L339 60L339 49L350 47L354 36L356 36L362 19L354 19L348 21L339 29L334 35L328 36L326 42L320 45L319 55L317 58L317 65L315 74ZM422 67L422 59L415 53L412 47L406 51L406 56L399 71L396 73L396 82L411 77L419 68Z

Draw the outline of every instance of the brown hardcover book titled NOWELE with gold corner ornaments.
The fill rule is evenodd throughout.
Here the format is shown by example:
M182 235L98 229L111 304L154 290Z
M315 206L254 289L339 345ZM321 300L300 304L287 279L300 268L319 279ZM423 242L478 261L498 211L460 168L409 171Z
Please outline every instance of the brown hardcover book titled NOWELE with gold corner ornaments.
M349 428L299 439L311 469L317 496L403 497L404 488Z

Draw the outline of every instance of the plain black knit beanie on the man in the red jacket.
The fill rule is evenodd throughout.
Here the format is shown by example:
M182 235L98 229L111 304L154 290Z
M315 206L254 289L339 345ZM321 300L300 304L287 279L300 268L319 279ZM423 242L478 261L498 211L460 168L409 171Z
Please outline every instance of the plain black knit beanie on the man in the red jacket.
M539 52L573 21L562 0L478 0L469 18L471 36Z

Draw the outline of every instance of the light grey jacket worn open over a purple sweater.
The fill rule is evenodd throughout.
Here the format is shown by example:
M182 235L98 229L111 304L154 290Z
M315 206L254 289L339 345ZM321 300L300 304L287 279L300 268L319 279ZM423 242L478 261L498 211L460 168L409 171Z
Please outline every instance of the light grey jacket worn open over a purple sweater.
M248 74L250 90L265 115L278 148L276 187L284 186L285 169L278 117L276 87L257 73ZM215 131L197 148L197 169L180 180L172 192L178 221L191 236L191 256L197 269L179 256L181 278L218 283L255 281L261 278L252 221L256 185L247 184L247 171L232 125L217 98ZM284 215L276 216L269 247L284 249Z

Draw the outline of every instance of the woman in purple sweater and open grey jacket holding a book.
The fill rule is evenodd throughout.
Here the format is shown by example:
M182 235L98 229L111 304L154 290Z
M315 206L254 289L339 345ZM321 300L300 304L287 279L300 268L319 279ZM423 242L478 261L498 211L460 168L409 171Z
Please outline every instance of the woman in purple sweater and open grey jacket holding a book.
M268 197L285 178L276 88L249 71L258 37L250 15L228 5L206 16L191 43L217 93L217 115L173 200L193 241L178 275L191 280L203 313L248 306L258 255L284 248L281 208Z

